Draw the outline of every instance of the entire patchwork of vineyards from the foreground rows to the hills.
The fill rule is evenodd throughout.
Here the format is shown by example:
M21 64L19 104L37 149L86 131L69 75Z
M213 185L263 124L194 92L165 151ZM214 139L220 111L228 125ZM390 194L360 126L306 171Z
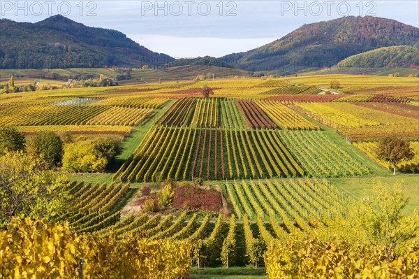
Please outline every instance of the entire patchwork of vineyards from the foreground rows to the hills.
M328 92L324 83L331 78L356 94ZM77 180L70 188L73 210L64 219L78 234L189 241L193 261L201 266L221 266L225 240L233 238L234 252L245 256L231 254L230 266L263 265L261 255L274 240L309 234L324 241L339 234L365 239L362 230L343 220L359 206L354 196L362 196L353 180L389 176L390 165L376 155L381 138L409 141L415 155L397 164L397 171L419 172L419 104L413 95L376 94L382 81L390 83L387 77L316 79L3 94L0 126L25 135L55 131L84 139L123 138L112 171L71 174ZM209 98L201 94L204 85L214 91ZM412 84L404 80L394 86L409 90ZM176 206L156 210L150 201L159 199L167 178L179 182L175 189L184 196L175 195ZM199 184L198 178L203 187L191 185ZM409 177L409 187L414 178ZM343 180L355 194L346 192ZM205 191L210 194L196 196ZM214 207L205 208L203 200Z

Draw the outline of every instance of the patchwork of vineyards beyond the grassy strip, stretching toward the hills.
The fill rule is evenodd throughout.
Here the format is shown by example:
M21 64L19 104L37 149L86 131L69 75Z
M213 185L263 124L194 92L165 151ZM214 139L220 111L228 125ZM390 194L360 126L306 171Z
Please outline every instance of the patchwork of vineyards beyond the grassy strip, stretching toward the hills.
M365 86L372 87L372 79L340 77L344 88L354 80L366 80ZM404 82L410 86L410 80ZM214 91L209 99L200 96L206 84ZM315 84L303 77L7 94L0 98L0 125L25 134L47 130L127 135L152 119L140 145L113 176L132 183L368 176L372 169L360 160L361 153L342 148L324 129L336 129L372 159L371 146L383 136L410 141L419 137L419 106L414 101L374 92L323 94L318 84L321 80ZM415 171L417 157L403 163L404 170Z

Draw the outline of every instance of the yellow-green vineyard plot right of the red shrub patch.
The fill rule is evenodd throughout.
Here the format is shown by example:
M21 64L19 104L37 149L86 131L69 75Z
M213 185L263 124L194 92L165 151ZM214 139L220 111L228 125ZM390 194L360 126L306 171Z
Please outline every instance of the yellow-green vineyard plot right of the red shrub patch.
M251 220L258 216L264 220L280 220L285 229L280 237L297 230L307 229L309 217L321 219L330 213L343 214L350 201L327 181L276 180L274 182L238 182L223 185L223 193L230 201L235 215ZM277 233L278 231L276 231Z

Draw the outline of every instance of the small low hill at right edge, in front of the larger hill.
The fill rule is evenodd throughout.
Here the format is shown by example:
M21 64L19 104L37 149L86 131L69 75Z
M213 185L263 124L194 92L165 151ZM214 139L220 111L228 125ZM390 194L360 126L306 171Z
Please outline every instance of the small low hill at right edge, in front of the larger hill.
M352 55L337 64L338 67L400 67L419 66L419 48L409 45L397 45L369 50Z

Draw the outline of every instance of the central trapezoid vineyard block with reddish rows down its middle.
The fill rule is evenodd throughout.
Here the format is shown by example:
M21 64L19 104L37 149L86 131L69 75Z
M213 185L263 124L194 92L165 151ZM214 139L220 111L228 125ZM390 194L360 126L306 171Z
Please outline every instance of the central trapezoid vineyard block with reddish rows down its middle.
M122 181L302 176L274 131L154 127L115 174Z

